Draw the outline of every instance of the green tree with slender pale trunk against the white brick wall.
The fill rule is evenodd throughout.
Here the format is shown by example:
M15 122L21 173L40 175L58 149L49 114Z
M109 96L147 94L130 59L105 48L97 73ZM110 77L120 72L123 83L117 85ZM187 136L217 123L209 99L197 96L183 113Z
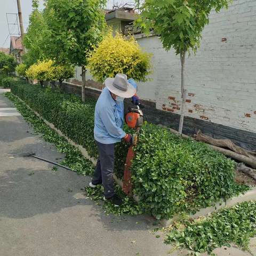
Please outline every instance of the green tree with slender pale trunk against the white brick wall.
M169 51L172 47L181 61L181 117L179 133L182 133L184 108L186 102L185 90L185 60L186 53L196 53L202 38L202 31L209 23L212 9L219 12L228 7L230 0L136 0L140 17L137 22L144 31L150 29L159 35L163 47Z

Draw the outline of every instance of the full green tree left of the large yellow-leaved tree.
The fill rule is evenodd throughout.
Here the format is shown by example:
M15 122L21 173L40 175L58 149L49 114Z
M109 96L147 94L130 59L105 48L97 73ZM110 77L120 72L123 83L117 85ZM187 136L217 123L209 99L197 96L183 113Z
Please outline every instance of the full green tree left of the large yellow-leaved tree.
M87 54L102 38L106 0L46 0L47 57L57 64L82 67L82 99L85 100Z

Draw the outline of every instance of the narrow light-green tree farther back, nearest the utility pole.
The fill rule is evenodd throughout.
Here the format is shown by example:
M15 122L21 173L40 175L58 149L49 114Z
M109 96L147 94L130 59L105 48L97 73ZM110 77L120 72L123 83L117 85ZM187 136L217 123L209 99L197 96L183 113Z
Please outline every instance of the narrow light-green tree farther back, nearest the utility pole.
M28 67L38 60L45 59L46 35L49 33L44 21L43 12L38 10L38 1L33 0L33 11L29 16L29 26L25 36L24 45L28 50L22 57L23 63Z

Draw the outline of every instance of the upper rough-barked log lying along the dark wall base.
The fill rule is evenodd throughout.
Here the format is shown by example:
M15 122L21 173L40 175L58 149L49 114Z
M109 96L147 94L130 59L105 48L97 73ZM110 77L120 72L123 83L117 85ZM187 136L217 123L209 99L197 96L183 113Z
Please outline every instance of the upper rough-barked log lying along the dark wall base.
M211 144L216 147L228 148L237 154L241 154L241 155L244 155L247 157L252 157L252 158L254 158L254 161L256 161L256 152L241 148L241 147L235 145L235 143L231 140L214 139L210 136L203 134L200 130L197 132L197 134L194 135L194 138L197 141L203 141L203 142L206 142L206 143Z

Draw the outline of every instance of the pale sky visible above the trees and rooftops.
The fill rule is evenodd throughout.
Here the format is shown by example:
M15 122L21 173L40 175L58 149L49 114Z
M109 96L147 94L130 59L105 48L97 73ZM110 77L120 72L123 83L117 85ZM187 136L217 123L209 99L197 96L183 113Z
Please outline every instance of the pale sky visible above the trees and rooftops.
M29 14L32 11L31 2L32 0L20 0L21 1L21 11L25 30L28 27ZM131 3L133 0L108 0L107 8L112 9L113 3ZM39 0L41 7L43 7L43 0ZM17 0L0 0L0 47L10 47L10 35L7 26L6 13L18 13L17 11ZM9 23L15 23L15 25L10 25L10 33L18 34L19 29L16 21L16 15L7 14Z

